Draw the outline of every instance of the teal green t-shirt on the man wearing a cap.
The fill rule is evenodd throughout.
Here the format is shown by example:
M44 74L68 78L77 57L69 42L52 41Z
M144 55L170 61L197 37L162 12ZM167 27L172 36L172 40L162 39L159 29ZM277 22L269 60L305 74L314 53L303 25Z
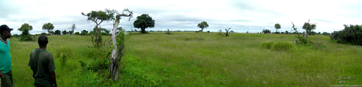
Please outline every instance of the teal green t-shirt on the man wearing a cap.
M8 73L11 70L10 41L5 44L0 41L0 70L2 73Z

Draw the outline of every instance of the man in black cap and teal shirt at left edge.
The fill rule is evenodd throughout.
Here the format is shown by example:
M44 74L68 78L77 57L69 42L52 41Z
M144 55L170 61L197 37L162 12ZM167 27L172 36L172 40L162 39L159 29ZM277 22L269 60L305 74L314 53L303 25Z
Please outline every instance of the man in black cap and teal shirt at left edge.
M7 25L0 26L0 78L1 87L13 87L13 75L11 73L11 56L10 56L10 31L13 29Z

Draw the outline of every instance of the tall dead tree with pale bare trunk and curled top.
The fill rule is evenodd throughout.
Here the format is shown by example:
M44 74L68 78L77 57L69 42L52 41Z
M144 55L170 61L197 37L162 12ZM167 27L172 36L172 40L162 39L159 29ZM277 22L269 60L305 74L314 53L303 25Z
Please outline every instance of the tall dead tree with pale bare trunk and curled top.
M124 14L123 12L129 12L130 14ZM111 51L111 58L109 59L109 70L108 72L113 75L113 80L118 79L118 73L119 73L119 61L122 59L123 55L123 48L124 45L124 30L122 30L122 27L118 27L119 19L120 17L129 17L128 21L132 18L132 12L128 9L124 9L121 14L116 15L116 20L113 26L113 30L111 33L112 42L113 42L113 49ZM117 30L119 32L116 34Z

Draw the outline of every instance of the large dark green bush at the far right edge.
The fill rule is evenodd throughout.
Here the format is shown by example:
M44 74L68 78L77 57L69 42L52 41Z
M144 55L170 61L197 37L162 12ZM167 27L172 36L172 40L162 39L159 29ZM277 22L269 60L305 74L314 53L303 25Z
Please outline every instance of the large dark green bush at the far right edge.
M343 30L332 33L331 39L342 44L362 45L362 25L344 24L343 26Z

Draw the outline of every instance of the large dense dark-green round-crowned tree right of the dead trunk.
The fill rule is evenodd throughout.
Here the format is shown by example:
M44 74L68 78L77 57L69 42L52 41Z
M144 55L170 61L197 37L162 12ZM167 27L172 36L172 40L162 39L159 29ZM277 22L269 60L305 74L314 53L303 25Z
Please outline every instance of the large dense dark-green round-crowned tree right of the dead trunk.
M134 28L140 28L141 33L146 33L146 28L155 27L155 20L153 20L148 14L142 14L133 22L133 26Z

